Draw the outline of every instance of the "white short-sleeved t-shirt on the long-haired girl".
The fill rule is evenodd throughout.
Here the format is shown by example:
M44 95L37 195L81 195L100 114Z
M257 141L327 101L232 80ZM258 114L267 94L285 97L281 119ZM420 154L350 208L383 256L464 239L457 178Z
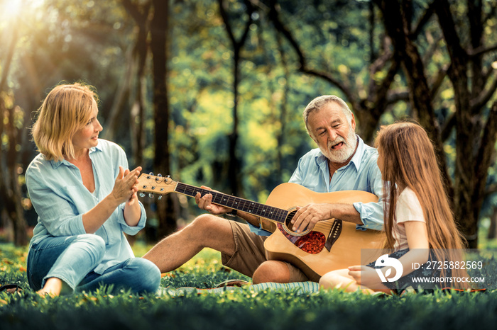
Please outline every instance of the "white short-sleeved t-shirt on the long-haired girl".
M393 239L395 239L395 244L393 245L395 251L409 248L404 227L404 222L408 221L426 222L416 194L410 188L405 188L398 196L395 207L395 224L392 230Z

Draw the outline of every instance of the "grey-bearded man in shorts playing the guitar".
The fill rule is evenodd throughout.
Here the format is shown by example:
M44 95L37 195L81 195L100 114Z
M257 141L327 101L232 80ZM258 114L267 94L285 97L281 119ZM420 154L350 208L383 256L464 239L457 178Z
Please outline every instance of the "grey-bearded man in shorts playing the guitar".
M331 218L353 222L357 230L381 230L383 186L376 165L378 153L355 134L356 121L349 107L337 96L320 96L309 103L303 117L307 132L319 148L300 159L290 182L317 193L364 190L377 195L378 203L302 205L293 217L293 230L312 229L318 221ZM197 194L195 200L209 214L200 215L143 256L163 273L173 271L209 247L221 252L224 266L251 276L253 283L319 280L317 275L308 278L291 263L266 259L263 243L271 233L261 229L257 217L212 204L211 194ZM218 217L223 214L236 214L248 224Z

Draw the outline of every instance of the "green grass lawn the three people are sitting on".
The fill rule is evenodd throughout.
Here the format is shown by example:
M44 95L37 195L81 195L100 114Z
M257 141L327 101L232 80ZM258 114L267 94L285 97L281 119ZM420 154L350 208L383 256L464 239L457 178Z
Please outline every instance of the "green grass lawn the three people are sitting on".
M133 246L137 256L147 246ZM249 288L219 294L138 297L129 292L41 298L28 288L26 248L0 244L0 284L18 283L21 295L0 294L0 329L495 329L497 291L410 293L374 297L339 290L312 294ZM163 278L163 286L212 288L229 278L218 253L204 250Z

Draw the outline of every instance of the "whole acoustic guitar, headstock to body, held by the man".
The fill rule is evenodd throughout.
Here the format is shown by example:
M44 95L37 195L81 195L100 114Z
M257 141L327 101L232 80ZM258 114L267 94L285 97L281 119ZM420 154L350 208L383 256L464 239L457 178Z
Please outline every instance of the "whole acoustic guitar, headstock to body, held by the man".
M317 222L311 230L293 232L290 223L297 206L310 203L377 202L372 193L361 190L344 190L333 193L315 193L295 183L282 183L268 196L266 204L226 195L213 190L190 186L163 176L143 173L138 178L138 190L143 193L180 193L190 197L212 194L212 203L260 217L261 227L272 232L264 241L266 258L293 263L309 278L322 276L329 271L373 261L380 252L361 260L361 249L376 251L384 241L383 232L356 229L356 225L338 219ZM376 249L376 250L372 250Z

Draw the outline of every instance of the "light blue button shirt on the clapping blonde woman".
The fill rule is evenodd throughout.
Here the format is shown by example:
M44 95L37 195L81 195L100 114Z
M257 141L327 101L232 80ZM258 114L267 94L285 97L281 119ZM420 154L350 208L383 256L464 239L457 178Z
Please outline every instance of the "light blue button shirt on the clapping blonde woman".
M99 139L97 147L89 149L89 158L92 159L95 178L94 193L83 185L80 169L69 161L47 161L43 154L31 161L26 170L26 186L38 213L31 244L50 236L86 234L82 215L111 193L119 166L128 169L124 150L106 140ZM104 258L94 269L95 273L102 274L107 268L133 258L124 233L135 235L145 227L146 212L141 203L140 208L141 218L136 227L126 224L123 203L95 232L106 244Z

